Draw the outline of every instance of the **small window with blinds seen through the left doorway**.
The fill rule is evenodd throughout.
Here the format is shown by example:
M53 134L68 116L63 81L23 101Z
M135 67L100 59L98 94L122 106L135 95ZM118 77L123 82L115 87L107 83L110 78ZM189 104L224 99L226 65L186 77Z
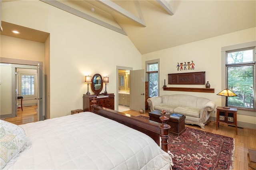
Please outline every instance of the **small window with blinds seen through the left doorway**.
M35 76L34 74L21 74L21 95L35 96Z

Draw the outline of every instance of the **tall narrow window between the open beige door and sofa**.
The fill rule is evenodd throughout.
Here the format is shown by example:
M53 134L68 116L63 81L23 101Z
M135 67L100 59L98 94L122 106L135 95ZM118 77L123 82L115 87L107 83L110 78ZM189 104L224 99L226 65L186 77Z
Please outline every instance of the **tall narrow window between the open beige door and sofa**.
M154 62L154 63L151 63ZM147 65L147 79L148 79L148 97L157 97L159 94L158 84L158 69L159 60L148 61Z

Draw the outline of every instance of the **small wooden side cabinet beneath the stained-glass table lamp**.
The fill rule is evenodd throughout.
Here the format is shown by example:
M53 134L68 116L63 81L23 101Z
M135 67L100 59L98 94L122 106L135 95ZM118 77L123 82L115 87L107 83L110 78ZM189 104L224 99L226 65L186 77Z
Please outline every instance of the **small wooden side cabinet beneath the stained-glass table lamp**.
M230 125L235 125L236 126L236 135L237 135L237 121L236 121L236 114L237 114L237 109L236 108L231 108L226 109L223 107L217 107L217 115L216 115L216 130L218 130L219 123L227 123Z

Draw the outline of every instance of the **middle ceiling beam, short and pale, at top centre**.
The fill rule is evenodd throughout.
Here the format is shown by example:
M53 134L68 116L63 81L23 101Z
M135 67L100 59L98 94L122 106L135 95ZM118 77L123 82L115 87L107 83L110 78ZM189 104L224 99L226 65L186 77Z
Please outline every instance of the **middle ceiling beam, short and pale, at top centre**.
M118 6L111 0L97 0L97 1L100 2L101 4L103 4L104 6L107 6L108 8L118 12L122 16L129 18L130 20L142 25L143 27L146 27L146 24L144 23L144 21L142 21L142 19L136 17L134 14L130 13L129 11L125 10L124 8Z

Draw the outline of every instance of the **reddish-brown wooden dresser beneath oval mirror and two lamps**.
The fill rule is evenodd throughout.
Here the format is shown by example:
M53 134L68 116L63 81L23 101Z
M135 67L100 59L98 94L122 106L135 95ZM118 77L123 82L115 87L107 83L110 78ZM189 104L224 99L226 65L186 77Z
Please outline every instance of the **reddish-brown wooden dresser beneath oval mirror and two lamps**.
M97 96L96 94L84 94L83 96L83 110L84 111L92 111L92 100L95 98L96 105L106 107L108 109L115 109L115 95L114 93L108 93L104 95Z

